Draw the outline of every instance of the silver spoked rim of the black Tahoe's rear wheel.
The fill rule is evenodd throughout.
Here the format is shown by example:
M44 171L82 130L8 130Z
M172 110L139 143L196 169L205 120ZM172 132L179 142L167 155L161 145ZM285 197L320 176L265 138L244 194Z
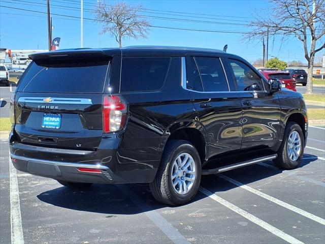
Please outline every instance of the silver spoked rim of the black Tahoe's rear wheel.
M188 193L196 179L196 167L192 156L187 153L178 155L172 167L173 189L181 195Z

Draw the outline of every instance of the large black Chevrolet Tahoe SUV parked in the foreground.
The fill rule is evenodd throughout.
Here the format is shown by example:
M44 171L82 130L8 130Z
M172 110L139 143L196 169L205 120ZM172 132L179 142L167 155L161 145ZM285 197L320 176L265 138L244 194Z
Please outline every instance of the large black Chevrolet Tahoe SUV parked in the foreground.
M68 187L147 182L158 201L177 205L196 195L201 175L301 162L302 96L239 56L128 47L29 57L11 100L18 170Z

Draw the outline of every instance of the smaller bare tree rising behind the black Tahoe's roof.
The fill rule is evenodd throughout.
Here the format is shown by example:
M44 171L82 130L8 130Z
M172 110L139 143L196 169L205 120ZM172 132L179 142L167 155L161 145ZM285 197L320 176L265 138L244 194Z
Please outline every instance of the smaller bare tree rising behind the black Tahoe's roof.
M95 15L97 21L103 24L103 33L113 35L121 48L124 37L146 37L150 24L146 18L139 15L142 9L141 5L130 6L123 2L116 5L99 2Z

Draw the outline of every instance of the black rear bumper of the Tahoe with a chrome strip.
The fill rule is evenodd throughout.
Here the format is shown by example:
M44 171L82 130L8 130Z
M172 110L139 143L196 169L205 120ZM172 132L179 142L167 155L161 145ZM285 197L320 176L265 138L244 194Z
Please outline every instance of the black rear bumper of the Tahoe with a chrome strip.
M112 138L103 138L98 150L59 149L14 142L10 134L9 149L16 169L58 180L99 184L152 182L160 161L134 161L123 157L113 146ZM149 158L149 157L148 157ZM80 172L78 168L100 169L101 172Z

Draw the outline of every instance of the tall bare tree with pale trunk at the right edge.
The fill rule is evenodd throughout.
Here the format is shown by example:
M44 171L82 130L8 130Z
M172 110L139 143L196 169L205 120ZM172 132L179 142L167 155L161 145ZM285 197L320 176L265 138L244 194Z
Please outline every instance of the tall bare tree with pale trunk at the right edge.
M312 73L315 54L325 48L325 0L269 0L269 13L256 15L250 23L248 40L280 37L282 41L298 38L308 63L307 93L313 92ZM266 16L266 17L265 17Z

